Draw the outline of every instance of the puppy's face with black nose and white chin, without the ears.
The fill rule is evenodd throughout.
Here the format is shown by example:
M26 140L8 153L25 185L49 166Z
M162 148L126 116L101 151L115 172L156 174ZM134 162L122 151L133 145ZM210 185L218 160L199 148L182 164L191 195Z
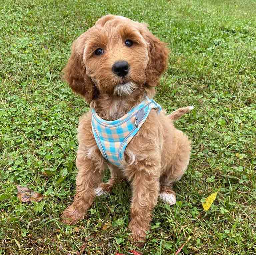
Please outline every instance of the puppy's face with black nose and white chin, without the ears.
M87 34L83 61L99 93L128 95L143 86L148 47L131 20L117 17Z

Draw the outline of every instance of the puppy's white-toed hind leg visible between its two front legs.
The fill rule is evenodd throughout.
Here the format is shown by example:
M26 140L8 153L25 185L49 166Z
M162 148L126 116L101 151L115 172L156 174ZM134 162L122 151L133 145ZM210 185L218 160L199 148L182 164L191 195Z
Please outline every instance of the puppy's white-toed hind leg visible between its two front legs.
M122 174L122 170L120 170L118 167L112 164L108 164L108 167L110 169L111 177L107 183L101 183L99 187L95 189L96 196L109 194L109 192L112 191L113 186L125 178Z

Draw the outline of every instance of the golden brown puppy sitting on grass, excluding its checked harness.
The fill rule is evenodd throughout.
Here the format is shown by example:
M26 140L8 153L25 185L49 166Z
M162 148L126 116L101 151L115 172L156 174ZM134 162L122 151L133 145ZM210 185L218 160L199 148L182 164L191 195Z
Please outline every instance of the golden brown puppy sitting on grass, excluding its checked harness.
M154 96L167 61L166 44L145 24L107 15L75 40L64 78L102 119L113 121L145 96ZM103 158L92 133L91 111L84 114L78 127L76 195L63 212L64 222L74 224L82 219L96 193L110 191L117 178L125 178L133 194L129 228L132 240L142 246L158 196L170 204L176 201L171 187L186 171L191 148L172 120L190 109L181 108L169 116L164 110L158 114L152 109L126 147L122 167ZM101 184L106 165L111 179Z

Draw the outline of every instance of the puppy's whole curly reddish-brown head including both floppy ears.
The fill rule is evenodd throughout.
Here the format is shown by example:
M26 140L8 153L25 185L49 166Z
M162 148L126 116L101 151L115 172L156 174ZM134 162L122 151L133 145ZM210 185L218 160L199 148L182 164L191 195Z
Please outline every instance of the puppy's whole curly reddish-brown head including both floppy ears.
M127 96L158 84L168 52L143 23L122 16L99 19L72 44L64 78L90 103L100 94Z

